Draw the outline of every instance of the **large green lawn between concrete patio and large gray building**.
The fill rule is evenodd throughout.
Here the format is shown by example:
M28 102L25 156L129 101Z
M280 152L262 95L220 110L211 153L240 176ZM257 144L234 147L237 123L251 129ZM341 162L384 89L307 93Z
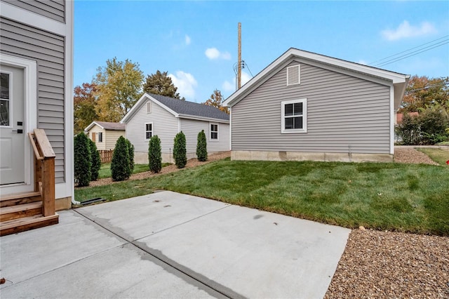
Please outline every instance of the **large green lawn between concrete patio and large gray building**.
M172 190L343 227L449 235L449 168L394 163L215 161L75 190L75 199Z

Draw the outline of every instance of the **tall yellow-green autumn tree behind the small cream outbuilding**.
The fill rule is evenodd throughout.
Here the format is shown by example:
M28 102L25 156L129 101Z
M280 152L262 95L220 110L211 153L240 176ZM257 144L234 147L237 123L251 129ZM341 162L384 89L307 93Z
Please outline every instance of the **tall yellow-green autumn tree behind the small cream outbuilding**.
M95 76L98 97L95 111L101 121L120 121L133 107L142 93L143 72L138 63L130 60L107 60L105 67L98 67Z

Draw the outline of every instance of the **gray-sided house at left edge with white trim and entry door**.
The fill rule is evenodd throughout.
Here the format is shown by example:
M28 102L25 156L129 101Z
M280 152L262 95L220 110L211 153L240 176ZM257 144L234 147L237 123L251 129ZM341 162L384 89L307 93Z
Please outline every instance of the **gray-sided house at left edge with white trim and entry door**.
M0 175L2 197L34 190L27 133L40 128L55 153L56 208L71 206L73 7L64 0L0 1L0 169L14 173L11 180Z

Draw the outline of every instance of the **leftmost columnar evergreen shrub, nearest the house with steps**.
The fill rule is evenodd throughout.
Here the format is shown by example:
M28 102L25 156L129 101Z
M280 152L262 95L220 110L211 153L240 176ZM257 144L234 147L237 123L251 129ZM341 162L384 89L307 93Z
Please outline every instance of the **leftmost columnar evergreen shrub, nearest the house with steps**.
M91 181L91 149L89 138L79 133L74 138L74 176L78 186L88 186Z

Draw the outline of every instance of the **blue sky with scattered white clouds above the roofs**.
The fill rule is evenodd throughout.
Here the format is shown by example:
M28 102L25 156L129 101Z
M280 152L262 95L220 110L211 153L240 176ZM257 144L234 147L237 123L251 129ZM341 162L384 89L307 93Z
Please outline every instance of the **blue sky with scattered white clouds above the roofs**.
M76 0L74 86L91 82L116 57L138 62L145 77L168 72L192 102L206 101L215 88L227 98L239 22L243 82L291 47L364 64L417 47L379 67L449 76L449 1Z

